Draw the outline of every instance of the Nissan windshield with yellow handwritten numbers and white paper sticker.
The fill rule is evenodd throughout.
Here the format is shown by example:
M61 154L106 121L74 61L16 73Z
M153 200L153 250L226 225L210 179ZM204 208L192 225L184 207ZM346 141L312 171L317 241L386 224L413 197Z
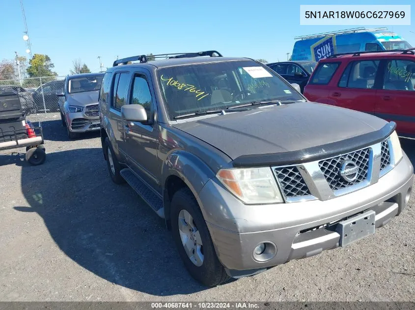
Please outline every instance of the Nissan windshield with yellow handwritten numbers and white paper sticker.
M255 101L304 100L287 82L251 60L174 66L159 69L157 75L170 119Z

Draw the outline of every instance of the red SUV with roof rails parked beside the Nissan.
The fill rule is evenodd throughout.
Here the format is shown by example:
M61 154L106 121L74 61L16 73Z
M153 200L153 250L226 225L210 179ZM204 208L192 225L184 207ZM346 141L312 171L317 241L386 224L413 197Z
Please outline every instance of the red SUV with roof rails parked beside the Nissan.
M393 120L400 136L415 138L415 48L322 59L304 95L310 101Z

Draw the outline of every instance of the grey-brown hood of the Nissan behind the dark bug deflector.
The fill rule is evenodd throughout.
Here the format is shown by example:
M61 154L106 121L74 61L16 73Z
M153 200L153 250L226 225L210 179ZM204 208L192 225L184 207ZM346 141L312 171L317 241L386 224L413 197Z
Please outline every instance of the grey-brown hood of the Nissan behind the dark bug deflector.
M205 117L172 126L239 156L298 151L380 130L387 121L331 105L299 102Z

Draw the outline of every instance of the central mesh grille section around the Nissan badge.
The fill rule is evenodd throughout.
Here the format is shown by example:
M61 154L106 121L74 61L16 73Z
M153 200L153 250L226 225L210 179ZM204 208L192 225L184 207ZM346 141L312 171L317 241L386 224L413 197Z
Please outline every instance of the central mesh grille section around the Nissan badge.
M358 184L367 179L367 172L369 170L369 154L370 148L365 148L346 155L322 160L318 162L318 165L323 172L327 183L329 183L330 188L333 191L337 191ZM339 173L342 163L346 160L354 162L359 167L358 176L353 182L344 180Z

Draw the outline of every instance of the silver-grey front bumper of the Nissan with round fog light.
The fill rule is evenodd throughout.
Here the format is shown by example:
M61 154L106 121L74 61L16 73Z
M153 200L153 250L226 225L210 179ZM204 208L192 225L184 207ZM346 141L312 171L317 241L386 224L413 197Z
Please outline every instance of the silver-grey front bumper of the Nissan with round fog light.
M372 210L375 227L385 225L405 208L413 182L414 169L404 154L377 183L325 201L244 205L216 179L206 183L197 199L219 260L229 275L239 277L338 247L340 235L333 226L321 227L333 221ZM277 253L259 262L253 250L264 241L274 244Z

